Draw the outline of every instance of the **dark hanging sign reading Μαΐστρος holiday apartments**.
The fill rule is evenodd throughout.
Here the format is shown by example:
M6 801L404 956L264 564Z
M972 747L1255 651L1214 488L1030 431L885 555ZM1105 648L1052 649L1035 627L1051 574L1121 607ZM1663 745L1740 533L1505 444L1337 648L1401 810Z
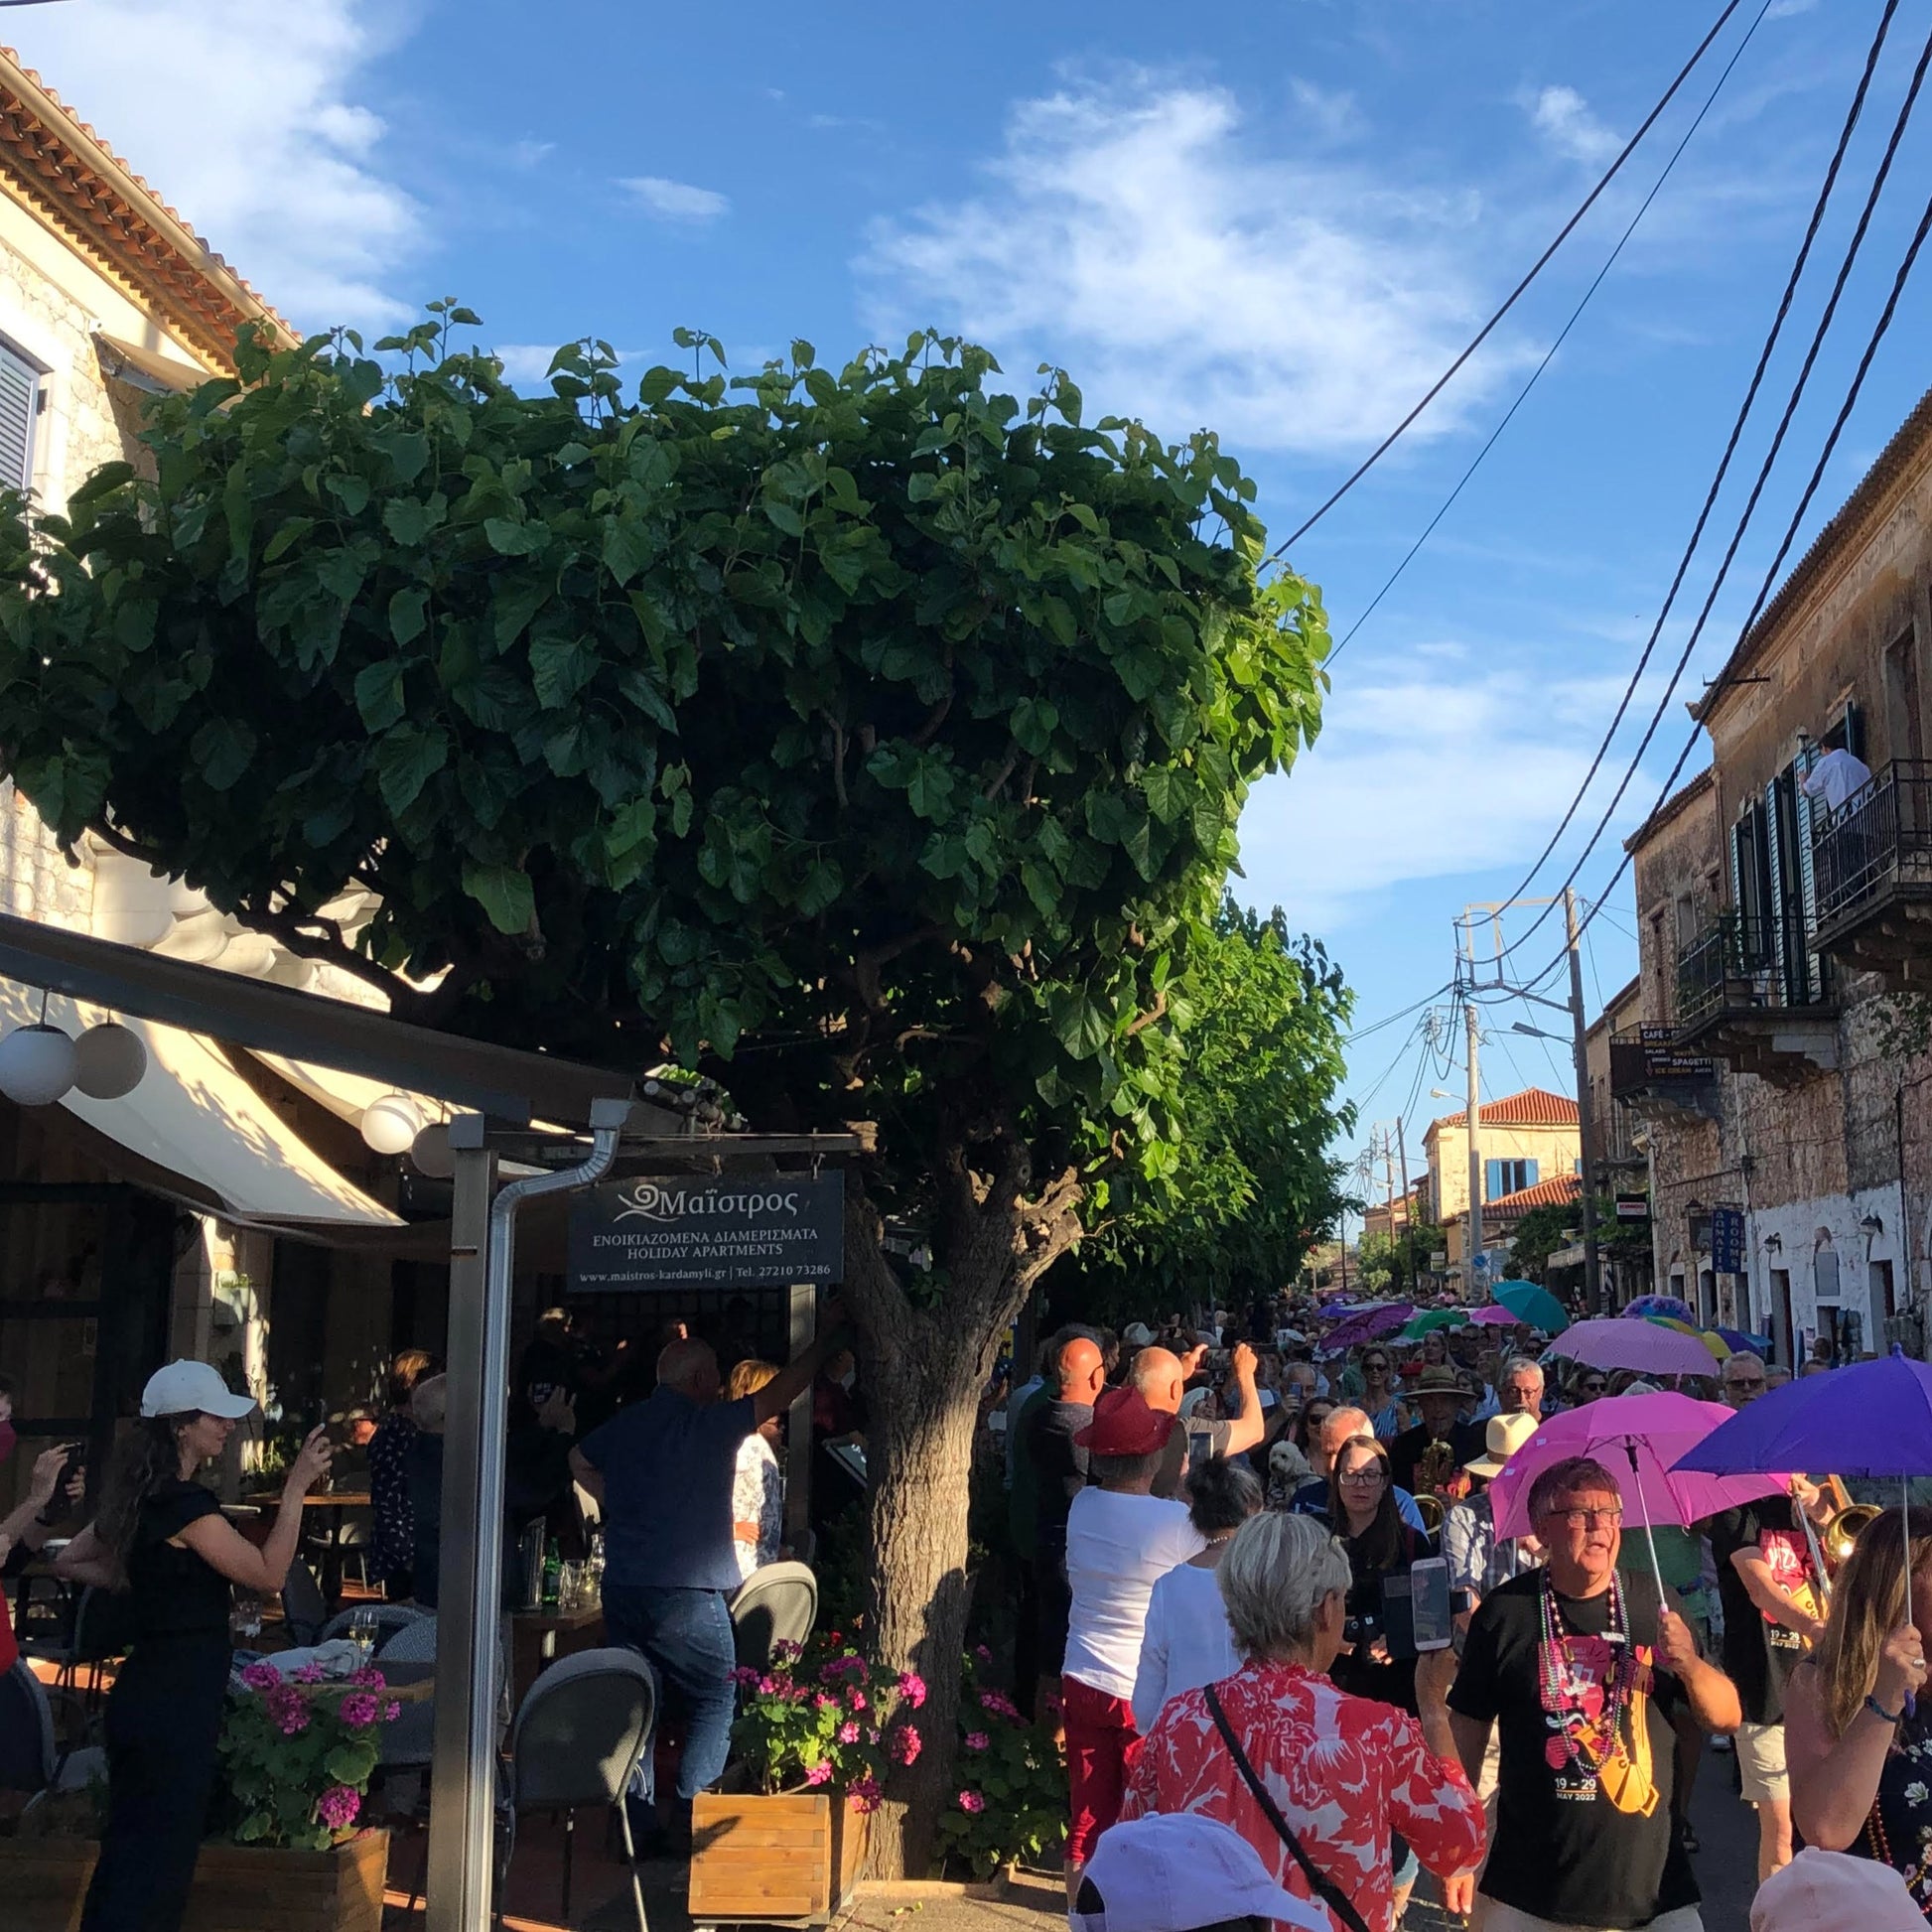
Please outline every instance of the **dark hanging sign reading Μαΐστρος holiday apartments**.
M607 1180L570 1213L572 1293L786 1287L844 1273L844 1175Z

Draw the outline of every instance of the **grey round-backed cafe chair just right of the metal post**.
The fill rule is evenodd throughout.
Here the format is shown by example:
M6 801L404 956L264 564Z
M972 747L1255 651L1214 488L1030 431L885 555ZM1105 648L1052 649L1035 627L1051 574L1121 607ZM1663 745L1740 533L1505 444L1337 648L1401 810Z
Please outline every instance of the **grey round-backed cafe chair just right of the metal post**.
M624 1793L657 1721L657 1683L636 1650L580 1650L553 1663L524 1696L510 1727L510 1839L497 1874L502 1882L516 1851L516 1820L527 1810L564 1814L564 1903L570 1922L570 1876L578 1808L616 1808L624 1832L624 1861L638 1932L651 1932L638 1880L638 1847ZM498 1903L500 1920L500 1903Z

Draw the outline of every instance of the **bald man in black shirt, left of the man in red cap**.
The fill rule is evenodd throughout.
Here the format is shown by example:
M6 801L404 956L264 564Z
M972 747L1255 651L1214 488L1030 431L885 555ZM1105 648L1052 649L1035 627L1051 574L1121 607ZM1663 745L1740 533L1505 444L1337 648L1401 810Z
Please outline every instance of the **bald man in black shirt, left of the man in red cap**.
M1014 1646L1014 1696L1020 1710L1045 1712L1059 1692L1066 1656L1066 1511L1086 1488L1086 1449L1074 1437L1094 1420L1094 1397L1107 1387L1107 1358L1092 1329L1061 1329L1047 1364L1045 1401L1028 1405L1020 1422L1020 1459L1032 1478L1030 1540L1014 1524L1022 1559L1022 1604L1032 1644ZM1020 1493L1014 1482L1014 1493ZM1028 1634L1022 1633L1022 1634ZM1024 1669L1022 1669L1024 1665Z

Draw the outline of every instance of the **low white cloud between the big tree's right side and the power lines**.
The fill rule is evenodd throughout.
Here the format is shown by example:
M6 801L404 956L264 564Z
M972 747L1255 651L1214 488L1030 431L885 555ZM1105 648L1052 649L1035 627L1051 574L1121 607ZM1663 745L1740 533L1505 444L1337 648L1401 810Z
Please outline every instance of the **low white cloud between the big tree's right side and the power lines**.
M1240 896L1285 906L1296 927L1335 931L1379 916L1406 881L1526 866L1582 782L1615 690L1621 680L1493 670L1476 682L1434 668L1337 684L1314 750L1248 800ZM1592 786L1584 829L1623 759ZM1662 775L1631 782L1600 850L1615 854L1613 838L1650 810ZM1577 844L1569 837L1565 852Z

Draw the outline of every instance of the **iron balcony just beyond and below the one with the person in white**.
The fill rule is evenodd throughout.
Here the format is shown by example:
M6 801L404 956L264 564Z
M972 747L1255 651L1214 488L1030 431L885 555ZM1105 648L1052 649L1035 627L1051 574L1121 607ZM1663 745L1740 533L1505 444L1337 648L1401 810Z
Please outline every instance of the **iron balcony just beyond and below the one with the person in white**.
M1710 1055L1774 1086L1837 1066L1832 962L1795 914L1725 912L1677 960L1677 1051Z

